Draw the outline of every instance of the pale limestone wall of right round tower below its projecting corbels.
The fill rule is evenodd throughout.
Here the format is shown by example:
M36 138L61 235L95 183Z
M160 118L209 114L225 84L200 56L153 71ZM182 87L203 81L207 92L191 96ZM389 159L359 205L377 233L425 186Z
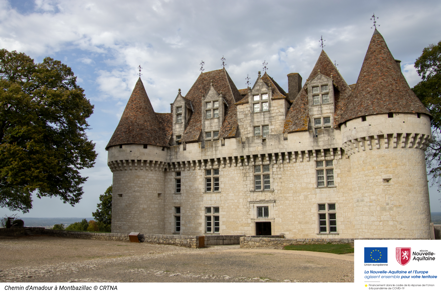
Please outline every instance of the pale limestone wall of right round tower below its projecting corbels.
M424 150L372 149L350 159L358 238L430 238Z

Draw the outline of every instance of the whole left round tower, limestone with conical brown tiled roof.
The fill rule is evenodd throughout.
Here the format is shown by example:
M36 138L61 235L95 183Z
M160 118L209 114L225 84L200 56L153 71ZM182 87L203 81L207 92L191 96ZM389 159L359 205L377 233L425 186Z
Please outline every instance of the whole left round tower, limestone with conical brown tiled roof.
M161 119L139 78L106 146L113 173L112 233L162 234L164 230L168 140Z

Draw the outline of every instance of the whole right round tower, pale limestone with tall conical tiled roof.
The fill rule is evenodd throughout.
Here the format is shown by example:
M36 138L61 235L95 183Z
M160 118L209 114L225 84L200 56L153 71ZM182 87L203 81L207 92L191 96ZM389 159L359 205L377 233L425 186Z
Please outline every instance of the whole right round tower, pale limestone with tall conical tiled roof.
M358 238L430 238L430 117L375 30L340 119Z

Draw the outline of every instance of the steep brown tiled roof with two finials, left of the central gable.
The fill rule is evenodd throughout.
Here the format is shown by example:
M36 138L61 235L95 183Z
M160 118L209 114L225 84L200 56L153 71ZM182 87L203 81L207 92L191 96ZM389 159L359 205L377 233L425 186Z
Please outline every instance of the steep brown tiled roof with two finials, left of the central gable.
M181 142L197 141L202 130L202 97L209 90L210 83L213 81L214 89L220 93L227 101L228 107L225 107L225 119L222 123L219 137L234 137L237 130L237 111L235 102L242 99L239 90L232 82L227 71L223 68L217 71L209 71L199 75L196 82L191 86L185 98L190 100L193 105L193 115L188 121L187 128L182 134Z

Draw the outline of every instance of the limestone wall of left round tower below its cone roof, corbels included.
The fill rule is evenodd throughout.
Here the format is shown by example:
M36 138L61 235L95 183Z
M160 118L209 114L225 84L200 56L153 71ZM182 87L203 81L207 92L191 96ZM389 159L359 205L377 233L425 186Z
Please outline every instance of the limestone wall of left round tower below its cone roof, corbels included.
M109 148L113 171L112 233L164 231L164 167L160 146L123 145Z

